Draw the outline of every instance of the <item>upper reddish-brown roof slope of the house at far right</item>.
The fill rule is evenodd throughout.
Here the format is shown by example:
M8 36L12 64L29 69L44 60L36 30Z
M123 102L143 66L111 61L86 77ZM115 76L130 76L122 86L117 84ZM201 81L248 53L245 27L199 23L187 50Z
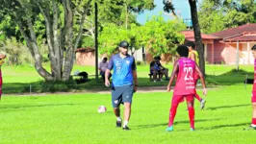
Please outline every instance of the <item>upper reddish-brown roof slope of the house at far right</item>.
M230 36L241 36L245 32L256 32L256 23L248 23L243 26L220 31L212 35L218 36L219 38L227 38Z

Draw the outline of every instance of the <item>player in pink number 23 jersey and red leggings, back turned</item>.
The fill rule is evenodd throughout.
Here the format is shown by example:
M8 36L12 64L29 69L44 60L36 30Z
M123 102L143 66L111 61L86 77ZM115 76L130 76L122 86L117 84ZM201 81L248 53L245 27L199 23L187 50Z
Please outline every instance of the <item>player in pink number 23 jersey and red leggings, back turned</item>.
M177 75L177 80L175 87L173 89L173 97L171 101L171 108L169 110L169 121L167 132L173 131L173 121L176 115L179 103L183 102L184 99L187 101L187 106L189 109L189 117L191 122L191 131L194 131L194 109L193 100L195 94L195 83L194 75L195 72L200 77L201 83L203 85L203 94L207 94L206 85L204 82L203 75L193 60L188 59L189 49L184 46L178 46L177 53L180 56L178 60L174 62L173 70L167 85L167 91L170 91L170 85L174 81L175 75Z

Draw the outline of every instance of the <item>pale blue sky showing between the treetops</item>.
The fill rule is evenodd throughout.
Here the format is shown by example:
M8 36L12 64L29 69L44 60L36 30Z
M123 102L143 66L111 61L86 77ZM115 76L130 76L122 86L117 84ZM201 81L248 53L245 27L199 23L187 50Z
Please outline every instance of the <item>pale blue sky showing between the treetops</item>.
M199 0L199 3L202 0ZM137 17L137 20L139 23L144 24L146 22L146 19L148 17L152 17L153 15L158 15L160 12L162 12L165 19L170 19L170 16L167 16L164 13L164 4L163 0L155 0L156 8L153 11L144 11L143 13L139 14ZM181 12L181 16L183 19L191 18L191 10L190 10L190 4L188 0L172 0L172 3L175 8L175 12Z

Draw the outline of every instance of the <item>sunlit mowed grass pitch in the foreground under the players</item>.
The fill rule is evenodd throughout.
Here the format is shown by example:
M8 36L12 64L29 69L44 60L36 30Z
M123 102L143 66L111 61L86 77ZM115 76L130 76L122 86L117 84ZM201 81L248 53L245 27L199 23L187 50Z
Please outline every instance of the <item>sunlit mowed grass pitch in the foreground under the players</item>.
M171 92L136 93L130 132L115 128L110 94L4 96L0 143L255 144L256 131L243 131L251 121L251 88L210 89L205 109L195 102L195 132L185 103L178 108L174 132L166 132ZM107 112L97 112L101 105Z

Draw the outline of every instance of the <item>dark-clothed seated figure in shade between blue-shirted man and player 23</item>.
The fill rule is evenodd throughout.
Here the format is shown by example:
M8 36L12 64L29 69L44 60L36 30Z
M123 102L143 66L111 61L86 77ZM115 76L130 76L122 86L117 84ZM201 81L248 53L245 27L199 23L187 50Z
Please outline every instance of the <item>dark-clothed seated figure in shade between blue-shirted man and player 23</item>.
M160 57L155 57L150 63L150 74L153 75L154 82L157 81L157 75L159 75L159 80L162 79L163 75L166 76L166 81L168 80L168 69L161 64L160 60Z

